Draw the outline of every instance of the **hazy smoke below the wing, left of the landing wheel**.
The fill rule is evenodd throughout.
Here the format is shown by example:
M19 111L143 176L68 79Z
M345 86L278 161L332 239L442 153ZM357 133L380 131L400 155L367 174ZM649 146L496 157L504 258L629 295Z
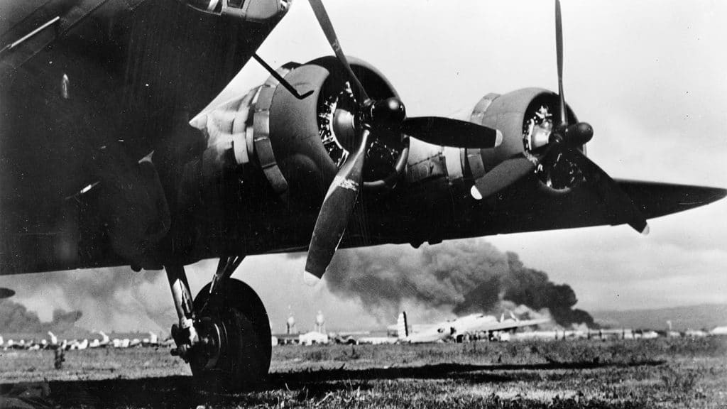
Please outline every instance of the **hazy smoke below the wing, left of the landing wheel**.
M166 330L176 319L166 277L158 271L91 269L3 279L17 295L12 311L8 311L9 304L0 303L0 325L4 325L6 318L25 320L28 323L23 325L23 332L37 332L33 328L63 326L76 320L77 325L88 329L159 331ZM34 311L52 310L52 320L41 322L38 314L26 307ZM83 311L83 317L76 311ZM48 319L46 315L45 320Z

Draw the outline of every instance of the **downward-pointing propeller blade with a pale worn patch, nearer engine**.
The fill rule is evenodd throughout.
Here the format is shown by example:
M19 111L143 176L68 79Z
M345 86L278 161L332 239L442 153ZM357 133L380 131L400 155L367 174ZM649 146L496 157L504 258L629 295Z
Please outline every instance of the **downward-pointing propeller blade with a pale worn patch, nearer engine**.
M364 158L368 146L369 130L364 129L356 154L348 156L328 188L313 229L313 237L310 238L308 259L305 261L306 273L323 277L336 253L364 178Z

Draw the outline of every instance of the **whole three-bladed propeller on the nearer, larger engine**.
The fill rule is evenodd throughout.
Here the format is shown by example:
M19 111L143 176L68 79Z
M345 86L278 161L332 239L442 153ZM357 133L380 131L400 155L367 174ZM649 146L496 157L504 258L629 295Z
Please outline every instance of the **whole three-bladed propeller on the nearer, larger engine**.
M441 146L460 148L494 148L502 142L502 133L471 122L438 116L407 118L406 108L398 98L372 100L358 80L343 53L331 19L321 0L308 0L326 39L348 75L356 96L355 123L357 140L350 154L329 186L313 237L308 248L305 272L322 277L331 263L356 204L363 183L364 162L369 143L379 130L403 133L410 137ZM306 274L308 275L308 274ZM308 281L308 279L307 279Z

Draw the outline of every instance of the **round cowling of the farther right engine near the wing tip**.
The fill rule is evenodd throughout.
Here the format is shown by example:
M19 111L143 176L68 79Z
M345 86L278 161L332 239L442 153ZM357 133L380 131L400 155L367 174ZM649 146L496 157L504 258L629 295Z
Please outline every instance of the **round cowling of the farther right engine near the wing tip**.
M542 88L523 88L504 95L485 95L473 109L470 121L500 130L502 144L494 149L482 149L482 175L500 162L524 154L536 164L535 174L542 186L552 192L569 191L582 181L578 167L567 159L544 166L541 149L548 143L550 133L560 118L558 94ZM568 121L577 123L570 106ZM579 147L585 151L584 146ZM474 175L475 178L481 175Z

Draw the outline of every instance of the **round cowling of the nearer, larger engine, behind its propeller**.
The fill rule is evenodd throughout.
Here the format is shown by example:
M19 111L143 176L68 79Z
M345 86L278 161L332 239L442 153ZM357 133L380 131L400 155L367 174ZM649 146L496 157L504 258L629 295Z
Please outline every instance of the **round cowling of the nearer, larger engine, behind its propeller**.
M398 96L376 68L356 58L351 66L369 96L376 100ZM270 103L270 135L281 171L289 180L320 180L325 193L353 149L355 97L334 57L322 57L289 71L285 78L299 92L313 91L302 100L278 87ZM409 139L378 132L367 152L364 188L393 187L403 172ZM308 187L309 188L309 187Z

